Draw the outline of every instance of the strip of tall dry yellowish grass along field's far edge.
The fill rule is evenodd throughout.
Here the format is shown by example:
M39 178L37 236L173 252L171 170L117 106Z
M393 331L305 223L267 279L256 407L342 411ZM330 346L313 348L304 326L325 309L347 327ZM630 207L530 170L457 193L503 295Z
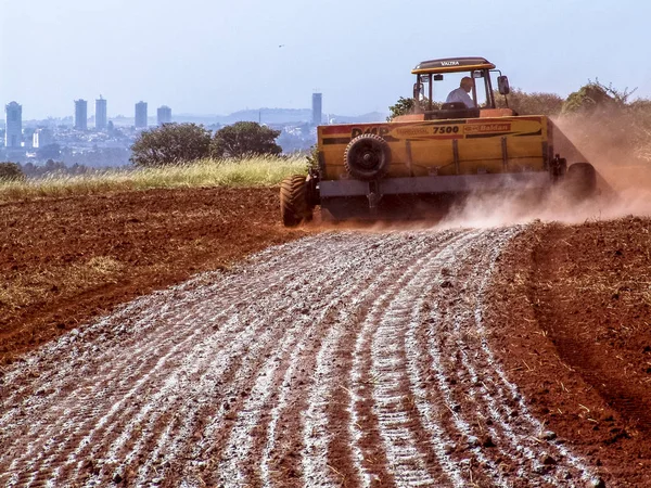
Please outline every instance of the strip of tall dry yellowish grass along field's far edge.
M51 176L24 182L0 182L0 203L44 196L72 196L110 191L159 188L273 187L288 176L304 174L305 157L203 159L161 168L115 169L82 176Z

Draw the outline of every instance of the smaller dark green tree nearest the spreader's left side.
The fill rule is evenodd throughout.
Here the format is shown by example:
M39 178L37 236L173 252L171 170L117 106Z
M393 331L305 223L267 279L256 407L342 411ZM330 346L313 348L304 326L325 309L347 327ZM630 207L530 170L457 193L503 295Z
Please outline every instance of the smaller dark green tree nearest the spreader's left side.
M213 157L243 157L247 155L278 155L282 147L276 143L280 130L253 121L239 121L215 132L210 144Z

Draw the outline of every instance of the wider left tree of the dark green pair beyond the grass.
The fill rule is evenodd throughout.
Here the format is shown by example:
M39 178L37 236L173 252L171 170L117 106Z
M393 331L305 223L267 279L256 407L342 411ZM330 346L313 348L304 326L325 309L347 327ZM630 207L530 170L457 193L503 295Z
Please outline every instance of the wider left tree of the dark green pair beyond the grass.
M163 166L208 157L210 131L196 124L165 124L143 131L131 145L136 166Z

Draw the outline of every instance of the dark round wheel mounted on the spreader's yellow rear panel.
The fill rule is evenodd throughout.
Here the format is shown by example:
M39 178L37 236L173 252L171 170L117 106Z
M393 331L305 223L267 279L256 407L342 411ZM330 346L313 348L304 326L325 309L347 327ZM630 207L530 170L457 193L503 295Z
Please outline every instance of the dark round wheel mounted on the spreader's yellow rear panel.
M374 133L362 133L350 141L344 153L344 166L353 178L371 181L382 178L391 163L391 149Z

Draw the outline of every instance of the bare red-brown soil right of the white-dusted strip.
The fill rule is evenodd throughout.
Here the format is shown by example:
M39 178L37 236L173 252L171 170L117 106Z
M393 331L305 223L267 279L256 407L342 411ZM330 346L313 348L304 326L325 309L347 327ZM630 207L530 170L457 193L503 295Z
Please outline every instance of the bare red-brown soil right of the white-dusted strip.
M609 486L651 486L651 220L535 224L486 296L498 356Z

